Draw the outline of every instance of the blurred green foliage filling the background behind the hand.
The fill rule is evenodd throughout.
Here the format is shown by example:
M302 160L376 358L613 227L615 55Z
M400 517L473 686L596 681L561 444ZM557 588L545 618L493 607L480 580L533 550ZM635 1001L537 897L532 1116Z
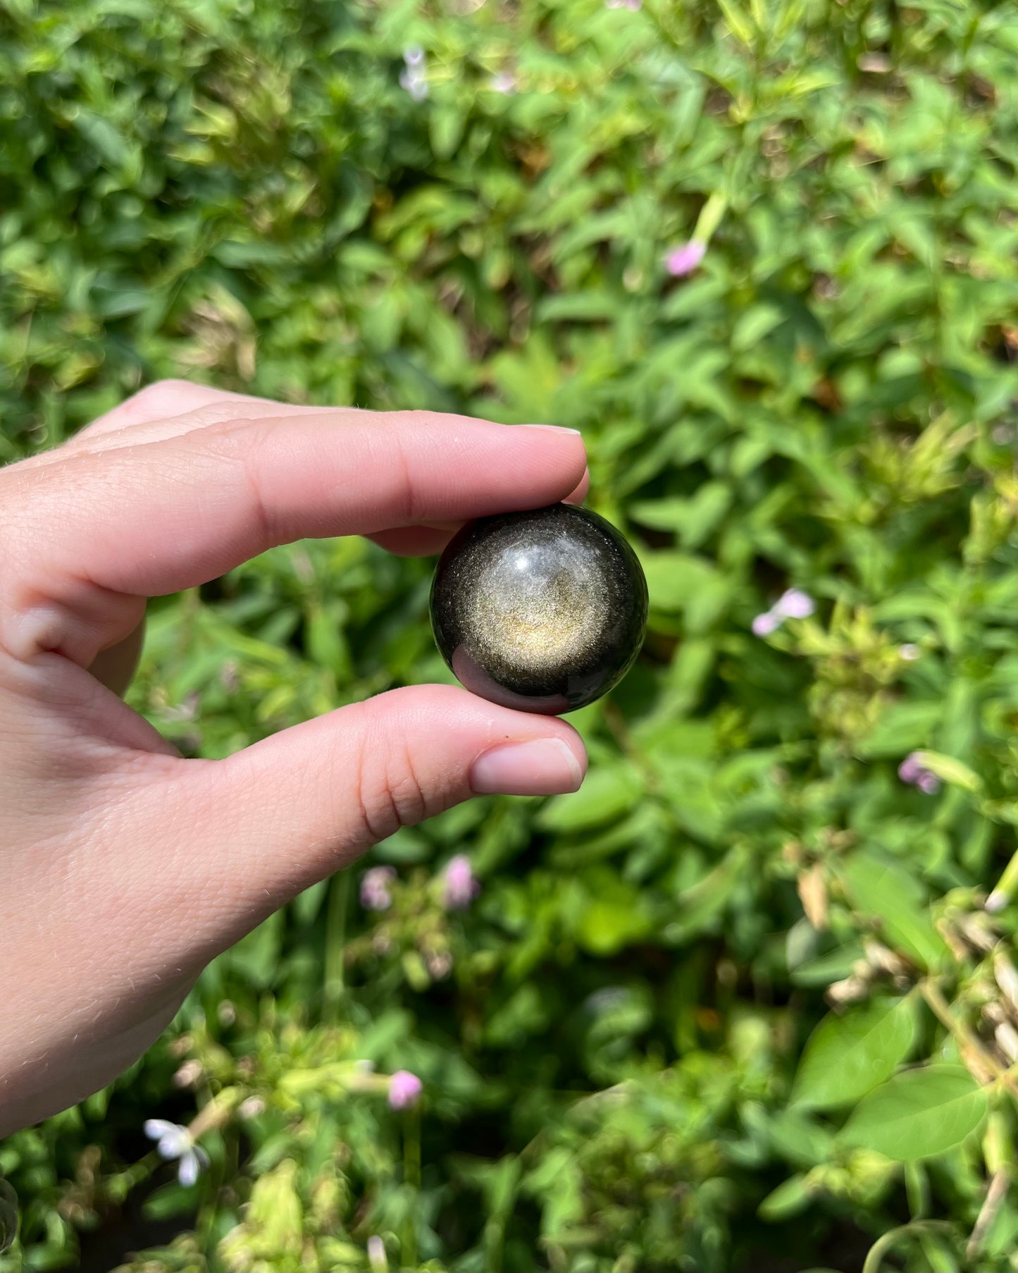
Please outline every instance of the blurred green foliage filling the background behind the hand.
M0 460L168 374L570 425L652 593L579 794L401 831L388 910L304 894L0 1146L4 1273L1015 1268L1015 55L990 0L0 0ZM428 578L275 550L131 701L221 756L445 679Z

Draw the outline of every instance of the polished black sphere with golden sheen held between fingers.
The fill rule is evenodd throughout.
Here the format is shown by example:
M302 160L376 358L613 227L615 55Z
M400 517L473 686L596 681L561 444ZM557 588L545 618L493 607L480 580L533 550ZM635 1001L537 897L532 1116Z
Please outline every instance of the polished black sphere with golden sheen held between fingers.
M468 522L431 583L431 630L456 677L523 712L557 715L607 694L645 629L636 554L574 504Z

